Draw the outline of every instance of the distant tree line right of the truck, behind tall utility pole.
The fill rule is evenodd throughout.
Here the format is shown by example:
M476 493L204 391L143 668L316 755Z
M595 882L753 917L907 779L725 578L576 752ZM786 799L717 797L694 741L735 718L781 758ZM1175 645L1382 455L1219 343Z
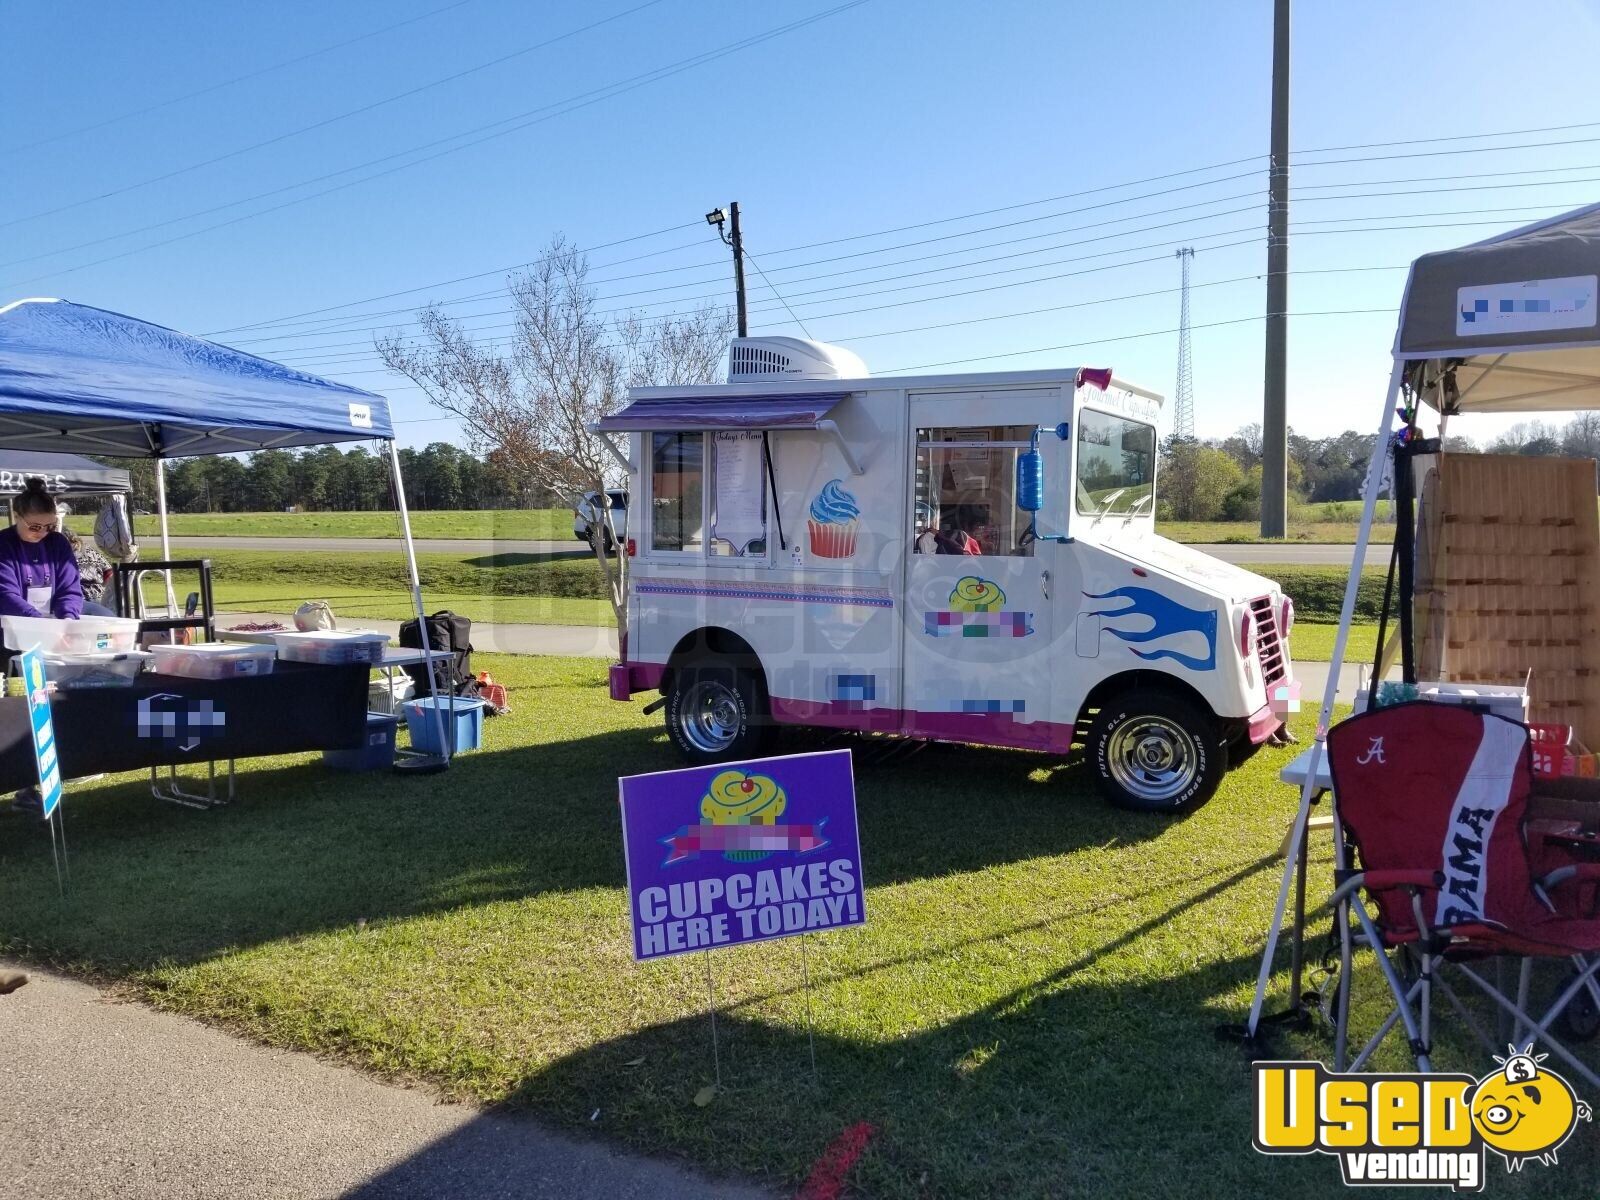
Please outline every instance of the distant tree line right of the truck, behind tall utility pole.
M1290 504L1360 499L1376 437L1347 429L1310 438L1291 429ZM1600 413L1579 413L1565 426L1523 421L1482 446L1451 434L1443 445L1458 454L1600 458ZM1162 443L1158 491L1157 515L1163 520L1261 520L1261 426L1243 426L1226 438L1168 438Z

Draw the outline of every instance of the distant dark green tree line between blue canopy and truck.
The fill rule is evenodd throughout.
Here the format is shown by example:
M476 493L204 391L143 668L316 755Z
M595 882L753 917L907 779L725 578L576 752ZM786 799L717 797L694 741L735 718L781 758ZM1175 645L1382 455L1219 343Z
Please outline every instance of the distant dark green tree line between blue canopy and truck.
M104 459L130 475L133 506L155 509L155 464ZM538 509L568 504L520 477L501 454L478 458L448 442L400 451L413 509ZM389 458L366 446L262 450L254 454L171 459L170 512L374 512L395 506Z

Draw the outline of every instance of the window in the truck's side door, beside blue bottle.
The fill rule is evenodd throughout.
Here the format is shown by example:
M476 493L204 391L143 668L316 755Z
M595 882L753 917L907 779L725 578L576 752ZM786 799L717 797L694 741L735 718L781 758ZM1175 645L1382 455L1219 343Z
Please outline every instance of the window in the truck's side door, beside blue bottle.
M1030 557L1016 507L1016 459L1032 426L917 430L917 554Z

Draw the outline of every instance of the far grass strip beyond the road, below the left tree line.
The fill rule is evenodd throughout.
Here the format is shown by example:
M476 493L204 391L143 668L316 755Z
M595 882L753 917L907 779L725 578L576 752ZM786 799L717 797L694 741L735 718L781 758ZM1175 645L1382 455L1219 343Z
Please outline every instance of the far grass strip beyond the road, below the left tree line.
M94 518L75 517L72 526L91 530ZM134 517L133 526L147 541L162 531L155 517ZM400 517L394 512L178 512L168 517L168 531L174 538L398 538ZM573 541L573 514L568 509L413 512L411 534Z

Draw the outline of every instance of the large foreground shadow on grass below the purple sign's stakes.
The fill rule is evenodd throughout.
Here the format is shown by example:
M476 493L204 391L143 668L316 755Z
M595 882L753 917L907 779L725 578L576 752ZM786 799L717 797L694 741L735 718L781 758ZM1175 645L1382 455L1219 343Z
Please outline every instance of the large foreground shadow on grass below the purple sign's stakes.
M1237 1048L1214 1042L1210 1008L1250 978L1254 962L1219 958L1138 984L1110 982L1115 971L1106 963L1272 862L1206 872L1200 890L1187 886L1197 880L1166 880L1138 896L1107 898L1093 907L1138 909L1163 891L1181 899L1066 962L1040 963L1029 984L904 1038L822 1032L837 1024L829 1010L850 1003L854 976L891 971L904 958L813 970L811 1003L822 1014L814 1075L806 1026L797 1019L805 1003L797 950L794 992L718 1010L722 1090L709 1107L691 1102L714 1075L707 1016L558 1059L523 1078L506 1107L626 1144L669 1146L712 1171L789 1189L840 1131L864 1120L877 1133L851 1195L1262 1194L1269 1182L1285 1182L1283 1166L1250 1149L1248 1074ZM1038 925L1019 922L981 941L1006 944ZM917 957L954 970L966 947L939 944ZM733 960L717 960L718 974L736 970ZM397 1195L403 1181L437 1168L434 1155L454 1160L458 1149L430 1147L354 1195ZM1338 1170L1318 1166L1333 1195Z

